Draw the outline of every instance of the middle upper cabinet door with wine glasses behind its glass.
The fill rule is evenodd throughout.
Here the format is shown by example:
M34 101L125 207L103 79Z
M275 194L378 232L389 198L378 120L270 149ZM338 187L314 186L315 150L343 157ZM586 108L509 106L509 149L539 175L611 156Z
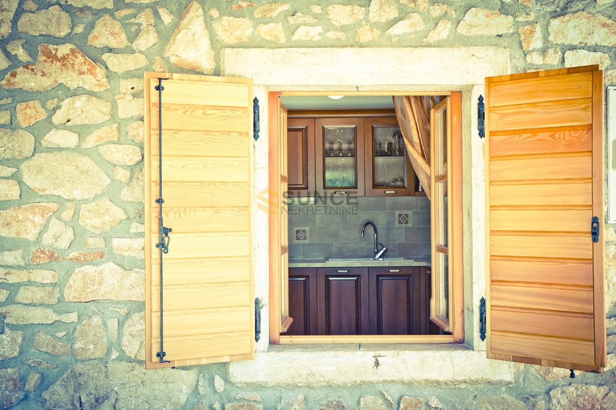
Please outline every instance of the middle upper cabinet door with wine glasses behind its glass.
M315 132L318 194L364 195L362 119L318 118Z

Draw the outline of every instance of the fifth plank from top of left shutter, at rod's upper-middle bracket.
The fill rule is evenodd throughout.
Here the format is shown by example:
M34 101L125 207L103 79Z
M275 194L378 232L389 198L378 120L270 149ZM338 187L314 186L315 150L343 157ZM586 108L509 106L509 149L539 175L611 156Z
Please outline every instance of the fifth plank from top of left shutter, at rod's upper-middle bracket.
M163 182L165 207L248 206L249 191L246 182ZM158 183L152 183L150 196L155 203Z

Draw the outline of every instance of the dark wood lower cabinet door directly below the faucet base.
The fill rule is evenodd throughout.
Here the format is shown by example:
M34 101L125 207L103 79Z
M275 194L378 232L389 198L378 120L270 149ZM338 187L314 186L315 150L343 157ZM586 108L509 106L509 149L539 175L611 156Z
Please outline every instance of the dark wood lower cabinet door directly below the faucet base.
M425 318L420 268L370 268L369 272L370 334L421 334Z

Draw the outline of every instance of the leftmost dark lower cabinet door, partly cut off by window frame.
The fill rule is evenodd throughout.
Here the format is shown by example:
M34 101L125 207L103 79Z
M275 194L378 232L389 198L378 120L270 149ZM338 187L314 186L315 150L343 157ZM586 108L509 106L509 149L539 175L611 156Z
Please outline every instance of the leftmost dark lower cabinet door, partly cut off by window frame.
M289 269L289 316L286 336L317 334L317 268Z

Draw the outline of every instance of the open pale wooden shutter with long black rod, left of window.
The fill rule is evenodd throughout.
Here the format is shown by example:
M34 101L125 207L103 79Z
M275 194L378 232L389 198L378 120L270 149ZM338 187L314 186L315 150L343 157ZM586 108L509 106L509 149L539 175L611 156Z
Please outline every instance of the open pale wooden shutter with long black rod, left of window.
M158 78L162 92L163 255L160 350ZM251 246L252 81L145 73L146 367L254 356Z

